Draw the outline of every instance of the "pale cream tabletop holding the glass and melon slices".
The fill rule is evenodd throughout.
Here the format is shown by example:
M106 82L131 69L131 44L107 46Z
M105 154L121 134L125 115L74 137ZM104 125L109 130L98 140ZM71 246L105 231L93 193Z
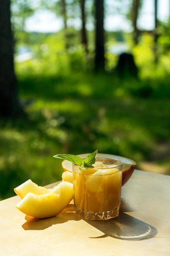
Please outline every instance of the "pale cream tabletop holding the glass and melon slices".
M104 221L75 216L73 201L35 220L15 208L19 201L0 202L0 256L170 256L170 176L135 170L119 217Z

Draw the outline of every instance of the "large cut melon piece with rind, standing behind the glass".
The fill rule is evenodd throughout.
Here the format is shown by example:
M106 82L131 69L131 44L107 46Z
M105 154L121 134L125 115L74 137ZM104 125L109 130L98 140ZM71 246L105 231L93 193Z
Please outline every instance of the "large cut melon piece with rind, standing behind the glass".
M87 157L88 154L81 154L78 156L83 158L83 157ZM102 154L102 153L98 153L97 157L111 157L111 158L118 159L123 163L121 186L123 186L130 179L130 177L132 176L132 173L135 170L136 162L133 161L132 159L121 157L119 155L110 155L110 154ZM62 168L64 169L64 171L73 172L72 163L68 160L62 161Z

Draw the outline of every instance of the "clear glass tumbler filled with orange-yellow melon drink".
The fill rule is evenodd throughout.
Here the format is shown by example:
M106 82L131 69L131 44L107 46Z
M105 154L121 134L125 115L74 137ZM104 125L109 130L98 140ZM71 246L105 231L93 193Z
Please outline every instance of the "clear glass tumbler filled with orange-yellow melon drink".
M73 164L75 213L85 219L108 220L119 215L122 162L97 157L94 168Z

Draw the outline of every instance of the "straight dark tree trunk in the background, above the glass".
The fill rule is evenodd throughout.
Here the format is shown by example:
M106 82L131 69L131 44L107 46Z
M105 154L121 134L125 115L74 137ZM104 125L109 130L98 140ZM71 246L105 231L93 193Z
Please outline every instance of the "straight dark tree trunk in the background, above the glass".
M95 70L104 71L104 0L95 0Z

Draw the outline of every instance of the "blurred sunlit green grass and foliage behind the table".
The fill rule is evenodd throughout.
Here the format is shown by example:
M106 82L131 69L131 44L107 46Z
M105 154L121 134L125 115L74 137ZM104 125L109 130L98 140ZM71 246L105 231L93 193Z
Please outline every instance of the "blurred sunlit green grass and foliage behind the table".
M155 65L144 35L133 48L139 79L121 79L110 52L107 72L94 74L93 51L87 56L76 44L66 51L62 33L20 36L33 58L15 63L25 116L0 120L0 199L28 179L42 186L61 180L58 153L98 149L170 174L170 52Z

